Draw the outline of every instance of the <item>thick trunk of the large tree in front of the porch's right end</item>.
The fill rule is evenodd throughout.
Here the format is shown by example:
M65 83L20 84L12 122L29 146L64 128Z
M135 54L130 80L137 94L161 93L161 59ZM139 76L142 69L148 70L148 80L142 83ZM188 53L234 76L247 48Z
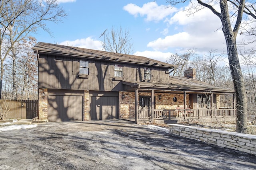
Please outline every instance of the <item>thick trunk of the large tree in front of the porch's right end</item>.
M228 51L228 61L233 78L236 95L236 132L247 132L247 98L245 83L239 63L238 51L236 48L236 35L238 30L233 31L229 20L227 1L220 1L220 20L222 21L222 31L225 36Z

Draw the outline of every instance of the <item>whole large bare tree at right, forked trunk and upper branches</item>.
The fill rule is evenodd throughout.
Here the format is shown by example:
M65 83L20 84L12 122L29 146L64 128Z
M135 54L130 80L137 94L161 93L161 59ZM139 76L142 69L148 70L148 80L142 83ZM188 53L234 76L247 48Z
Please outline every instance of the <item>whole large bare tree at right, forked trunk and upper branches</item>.
M234 90L236 94L236 109L237 109L237 121L236 132L246 133L247 131L247 99L245 91L245 83L242 75L238 59L238 50L236 47L236 36L240 28L243 13L256 19L256 8L254 2L245 3L246 0L220 0L219 7L220 12L215 8L217 3L213 4L212 1L202 2L201 0L167 0L167 3L171 6L175 6L179 3L191 2L192 8L196 11L202 8L208 8L211 10L222 23L222 31L226 40L226 47L228 52L228 61L230 65L230 71L233 78ZM230 18L230 14L231 17ZM232 21L235 25L232 28Z

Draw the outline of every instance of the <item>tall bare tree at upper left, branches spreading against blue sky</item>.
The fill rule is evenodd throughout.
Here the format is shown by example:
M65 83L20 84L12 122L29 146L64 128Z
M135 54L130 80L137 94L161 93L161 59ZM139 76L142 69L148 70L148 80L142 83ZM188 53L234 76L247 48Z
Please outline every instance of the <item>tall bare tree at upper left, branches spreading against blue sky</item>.
M4 62L8 56L16 64L16 43L40 27L50 32L46 21L58 22L67 16L57 0L0 0L0 98L4 74ZM16 76L16 70L12 74ZM14 91L17 87L14 80ZM15 98L15 94L14 94Z

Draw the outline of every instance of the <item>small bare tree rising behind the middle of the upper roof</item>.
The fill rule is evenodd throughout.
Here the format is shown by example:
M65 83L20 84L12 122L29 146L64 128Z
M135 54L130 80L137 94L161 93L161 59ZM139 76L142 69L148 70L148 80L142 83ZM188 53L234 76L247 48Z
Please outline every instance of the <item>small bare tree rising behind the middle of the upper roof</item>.
M114 29L112 27L109 32L106 29L100 37L104 37L102 42L103 49L113 53L130 54L132 53L132 38L130 37L130 31L125 29Z

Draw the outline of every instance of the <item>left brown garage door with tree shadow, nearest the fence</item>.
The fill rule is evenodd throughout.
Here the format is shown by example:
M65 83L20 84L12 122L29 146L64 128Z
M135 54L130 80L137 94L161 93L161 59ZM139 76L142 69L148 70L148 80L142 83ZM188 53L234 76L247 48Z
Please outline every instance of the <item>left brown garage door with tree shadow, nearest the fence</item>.
M48 95L48 121L82 121L82 101L83 96Z

